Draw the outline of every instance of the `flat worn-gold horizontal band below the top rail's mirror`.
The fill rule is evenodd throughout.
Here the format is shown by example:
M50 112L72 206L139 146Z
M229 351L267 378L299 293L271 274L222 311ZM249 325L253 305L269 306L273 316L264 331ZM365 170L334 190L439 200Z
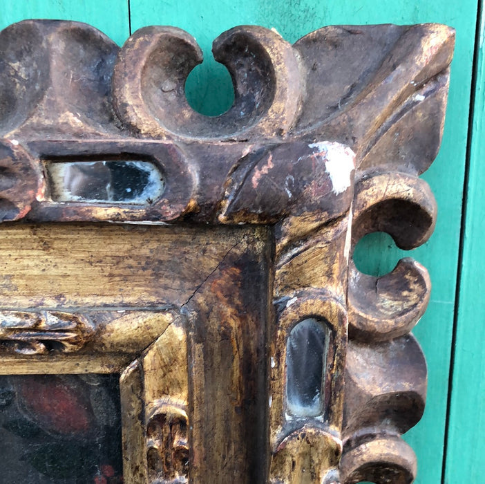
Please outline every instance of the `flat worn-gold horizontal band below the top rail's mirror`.
M225 227L3 226L0 307L182 305L227 252L251 243L251 232Z

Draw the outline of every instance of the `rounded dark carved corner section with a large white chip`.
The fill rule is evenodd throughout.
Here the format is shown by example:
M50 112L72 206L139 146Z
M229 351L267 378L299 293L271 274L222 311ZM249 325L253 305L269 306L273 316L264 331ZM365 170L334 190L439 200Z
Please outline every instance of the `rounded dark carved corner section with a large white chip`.
M274 223L318 213L327 221L347 212L354 185L354 153L334 142L291 142L241 158L226 182L218 218L224 223Z

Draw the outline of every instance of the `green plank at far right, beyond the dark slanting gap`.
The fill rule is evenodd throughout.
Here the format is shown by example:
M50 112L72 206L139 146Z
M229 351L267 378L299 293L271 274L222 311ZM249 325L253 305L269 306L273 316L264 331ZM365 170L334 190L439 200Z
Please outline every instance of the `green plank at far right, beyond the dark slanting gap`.
M477 52L445 483L482 483L485 456L485 17Z

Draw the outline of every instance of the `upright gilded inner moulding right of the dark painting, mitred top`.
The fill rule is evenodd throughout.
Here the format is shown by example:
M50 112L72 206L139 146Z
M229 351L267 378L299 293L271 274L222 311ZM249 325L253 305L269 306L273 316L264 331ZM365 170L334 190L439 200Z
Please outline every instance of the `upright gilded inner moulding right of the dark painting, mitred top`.
M120 378L124 482L189 482L187 333L177 320Z

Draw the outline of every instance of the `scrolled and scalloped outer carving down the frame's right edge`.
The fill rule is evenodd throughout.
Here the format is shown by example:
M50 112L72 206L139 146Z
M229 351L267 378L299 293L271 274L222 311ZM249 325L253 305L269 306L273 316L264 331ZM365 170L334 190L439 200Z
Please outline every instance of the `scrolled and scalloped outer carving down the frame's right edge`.
M362 236L387 232L399 248L426 242L435 227L436 202L428 184L397 172L368 173L354 196L352 252ZM409 334L430 299L428 271L401 259L373 277L349 263L349 344L345 368L344 451L341 478L410 483L416 456L401 434L422 416L426 361Z

